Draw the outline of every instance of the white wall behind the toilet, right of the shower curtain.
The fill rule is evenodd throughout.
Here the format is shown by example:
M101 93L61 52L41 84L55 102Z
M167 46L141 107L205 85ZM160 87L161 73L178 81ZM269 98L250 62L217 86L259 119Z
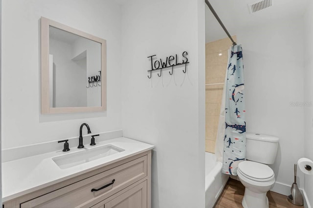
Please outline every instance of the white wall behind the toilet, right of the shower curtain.
M246 85L247 132L280 138L273 190L290 194L293 164L304 156L303 19L285 19L237 31L242 44ZM312 76L311 76L312 77ZM303 174L298 171L298 185Z

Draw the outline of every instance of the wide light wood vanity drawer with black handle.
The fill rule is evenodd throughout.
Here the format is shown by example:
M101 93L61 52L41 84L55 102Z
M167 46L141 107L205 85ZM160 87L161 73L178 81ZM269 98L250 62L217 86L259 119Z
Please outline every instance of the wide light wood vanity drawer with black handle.
M98 203L100 199L107 198L146 176L147 155L22 203L21 208L91 206ZM112 185L98 191L91 191L91 189L99 189L112 183L113 179L115 181Z

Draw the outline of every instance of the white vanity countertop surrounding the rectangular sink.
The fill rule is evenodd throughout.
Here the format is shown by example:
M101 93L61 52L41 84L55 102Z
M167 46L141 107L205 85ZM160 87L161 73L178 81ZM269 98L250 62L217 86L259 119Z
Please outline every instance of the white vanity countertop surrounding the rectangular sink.
M85 145L85 148L100 147L107 144L122 148L125 151L67 169L60 169L52 157L82 151L82 149L71 148L67 152L53 151L2 163L2 202L154 148L153 145L125 137L102 141L96 146Z

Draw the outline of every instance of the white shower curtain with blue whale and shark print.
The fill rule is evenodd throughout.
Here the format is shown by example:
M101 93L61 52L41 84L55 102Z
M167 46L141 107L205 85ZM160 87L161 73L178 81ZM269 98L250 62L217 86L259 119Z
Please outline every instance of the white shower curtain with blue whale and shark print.
M223 163L222 172L237 175L246 157L244 65L241 45L228 50L228 64L216 138L215 154Z

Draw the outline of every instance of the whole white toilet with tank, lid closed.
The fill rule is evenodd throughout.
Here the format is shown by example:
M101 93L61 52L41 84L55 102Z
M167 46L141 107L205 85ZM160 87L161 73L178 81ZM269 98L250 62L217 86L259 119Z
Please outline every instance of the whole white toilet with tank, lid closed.
M268 208L269 189L274 186L274 171L268 167L275 161L279 138L246 133L246 161L239 163L237 174L245 186L244 208Z

